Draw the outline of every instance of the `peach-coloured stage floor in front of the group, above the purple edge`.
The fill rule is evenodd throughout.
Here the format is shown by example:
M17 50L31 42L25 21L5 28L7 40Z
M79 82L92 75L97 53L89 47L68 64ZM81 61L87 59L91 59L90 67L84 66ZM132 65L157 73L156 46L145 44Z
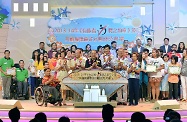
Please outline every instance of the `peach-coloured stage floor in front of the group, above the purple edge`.
M101 112L102 110L102 108L74 108L72 101L68 101L66 106L54 106L52 104L48 104L48 107L38 106L35 100L20 100L20 102L24 108L24 109L21 109L21 111ZM150 103L150 102L139 103L138 106L118 105L116 108L114 108L114 111L115 112L162 111L162 110L154 110L153 106L154 106L154 103ZM187 110L187 102L180 102L179 110Z

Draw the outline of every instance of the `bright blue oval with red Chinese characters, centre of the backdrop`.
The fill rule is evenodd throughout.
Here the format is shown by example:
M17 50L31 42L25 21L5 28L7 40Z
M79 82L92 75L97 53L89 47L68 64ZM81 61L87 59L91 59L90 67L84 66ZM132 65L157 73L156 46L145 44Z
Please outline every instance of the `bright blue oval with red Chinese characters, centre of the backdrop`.
M67 21L67 20L64 20ZM96 49L98 45L110 44L117 41L122 44L125 39L133 41L137 36L137 28L128 25L124 26L115 23L110 18L83 18L76 22L70 22L62 27L49 28L49 42L62 42L65 45L76 44L80 48L85 48L86 44L92 45Z

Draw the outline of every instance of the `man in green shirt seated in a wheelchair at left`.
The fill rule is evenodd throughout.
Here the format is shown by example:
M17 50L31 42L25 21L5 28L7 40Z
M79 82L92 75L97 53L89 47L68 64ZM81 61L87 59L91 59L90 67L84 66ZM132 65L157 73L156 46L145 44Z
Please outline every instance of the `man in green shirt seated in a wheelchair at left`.
M19 61L19 68L16 68L16 77L14 77L15 80L17 80L18 84L18 94L19 96L25 96L27 93L27 78L28 78L28 70L24 68L24 61Z

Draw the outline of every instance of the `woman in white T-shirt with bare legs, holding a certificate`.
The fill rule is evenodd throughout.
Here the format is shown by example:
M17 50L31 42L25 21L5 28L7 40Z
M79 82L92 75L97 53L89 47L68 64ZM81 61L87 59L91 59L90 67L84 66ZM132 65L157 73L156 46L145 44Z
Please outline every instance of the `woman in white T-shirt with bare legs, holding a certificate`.
M159 57L159 52L157 49L152 50L152 59L150 60L152 66L156 66L156 71L149 72L149 82L152 90L152 102L158 100L160 95L160 82L162 78L161 70L164 69L164 61Z

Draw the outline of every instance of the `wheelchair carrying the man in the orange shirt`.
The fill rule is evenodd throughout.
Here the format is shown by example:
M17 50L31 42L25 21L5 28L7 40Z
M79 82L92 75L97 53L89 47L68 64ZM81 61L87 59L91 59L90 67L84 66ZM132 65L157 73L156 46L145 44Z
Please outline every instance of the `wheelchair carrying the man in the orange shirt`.
M39 87L36 88L35 90L35 100L36 100L36 104L38 104L38 106L43 106L43 104L45 105L45 107L47 107L47 104L53 104L54 106L62 106L62 95L61 95L61 85L57 84L56 85L56 90L58 92L58 97L57 99L53 98L53 95L48 91L45 90L45 85L40 85Z

